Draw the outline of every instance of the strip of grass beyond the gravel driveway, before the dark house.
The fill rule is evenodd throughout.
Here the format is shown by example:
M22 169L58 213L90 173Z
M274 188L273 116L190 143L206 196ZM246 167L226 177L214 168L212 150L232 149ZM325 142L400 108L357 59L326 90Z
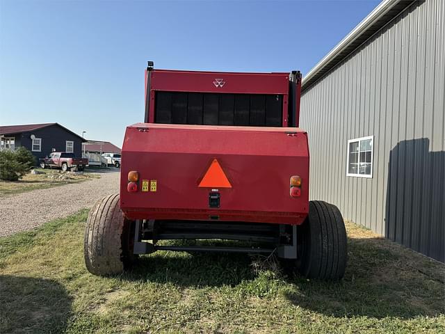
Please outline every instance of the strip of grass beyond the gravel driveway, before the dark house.
M42 174L26 174L18 181L0 180L0 198L3 196L24 193L35 189L47 189L53 186L78 183L100 177L97 173L83 173L83 175L68 175L67 179L58 179L63 172L55 169L35 168ZM49 176L54 176L50 178Z

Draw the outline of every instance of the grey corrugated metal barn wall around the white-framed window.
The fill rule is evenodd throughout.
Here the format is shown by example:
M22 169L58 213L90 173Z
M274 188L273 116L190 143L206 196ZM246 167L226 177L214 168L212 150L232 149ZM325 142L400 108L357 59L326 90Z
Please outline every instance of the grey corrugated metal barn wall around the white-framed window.
M445 262L445 1L416 1L302 96L310 196ZM374 136L373 178L346 177Z

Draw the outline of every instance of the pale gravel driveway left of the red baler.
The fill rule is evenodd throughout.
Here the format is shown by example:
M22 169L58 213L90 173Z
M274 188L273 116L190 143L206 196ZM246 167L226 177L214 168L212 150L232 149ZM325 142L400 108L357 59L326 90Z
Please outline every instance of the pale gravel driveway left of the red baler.
M119 176L119 171L110 171L101 173L100 179L1 198L0 237L92 207L99 198L119 192Z

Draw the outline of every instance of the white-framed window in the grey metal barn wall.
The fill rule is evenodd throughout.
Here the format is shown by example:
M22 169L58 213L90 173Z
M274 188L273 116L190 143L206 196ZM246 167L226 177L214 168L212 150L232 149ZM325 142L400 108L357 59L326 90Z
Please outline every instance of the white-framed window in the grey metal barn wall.
M373 177L373 141L374 136L348 141L347 176Z

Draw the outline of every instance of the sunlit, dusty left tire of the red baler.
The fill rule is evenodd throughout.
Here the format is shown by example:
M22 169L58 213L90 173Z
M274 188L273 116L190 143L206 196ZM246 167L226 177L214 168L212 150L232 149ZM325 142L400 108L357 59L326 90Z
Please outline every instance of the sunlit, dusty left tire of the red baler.
M85 264L95 275L121 273L132 267L135 222L124 217L119 194L98 200L91 209L83 238Z

